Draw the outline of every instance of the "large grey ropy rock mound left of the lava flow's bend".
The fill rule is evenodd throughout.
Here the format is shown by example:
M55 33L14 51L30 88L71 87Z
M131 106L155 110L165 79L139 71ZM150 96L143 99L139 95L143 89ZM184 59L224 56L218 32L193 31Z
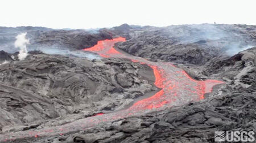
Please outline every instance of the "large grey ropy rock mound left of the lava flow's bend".
M124 59L91 61L33 51L26 60L0 65L0 75L2 133L121 110L158 91L150 67Z

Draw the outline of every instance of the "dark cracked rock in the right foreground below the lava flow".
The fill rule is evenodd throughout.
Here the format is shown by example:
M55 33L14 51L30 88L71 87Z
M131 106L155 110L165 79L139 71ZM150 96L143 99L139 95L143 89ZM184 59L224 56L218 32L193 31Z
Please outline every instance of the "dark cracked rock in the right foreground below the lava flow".
M200 102L38 142L214 142L214 131L255 132L255 58L247 58L253 51L242 51L221 65L226 84Z

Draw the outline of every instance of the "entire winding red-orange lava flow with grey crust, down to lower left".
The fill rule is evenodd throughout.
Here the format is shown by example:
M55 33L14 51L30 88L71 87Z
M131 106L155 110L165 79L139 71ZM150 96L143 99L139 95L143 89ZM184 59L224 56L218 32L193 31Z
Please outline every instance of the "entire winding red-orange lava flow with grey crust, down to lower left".
M55 136L63 135L68 132L78 132L86 130L89 127L103 125L106 122L112 122L128 116L142 115L152 110L162 110L164 107L183 105L189 101L199 101L204 98L205 93L211 92L214 85L223 83L222 81L217 80L197 81L189 77L185 71L175 67L171 63L151 62L141 57L122 54L115 50L113 46L116 42L123 41L125 41L125 38L122 37L114 38L113 40L98 41L97 45L84 50L97 53L101 55L101 57L105 58L126 58L133 62L147 64L154 71L155 85L158 88L161 88L158 93L134 103L133 106L126 110L112 112L109 114L103 114L100 112L94 116L76 120L75 122L57 127L48 127L34 131L20 131L9 133L8 135L0 135L0 141L11 141L15 138L24 137Z

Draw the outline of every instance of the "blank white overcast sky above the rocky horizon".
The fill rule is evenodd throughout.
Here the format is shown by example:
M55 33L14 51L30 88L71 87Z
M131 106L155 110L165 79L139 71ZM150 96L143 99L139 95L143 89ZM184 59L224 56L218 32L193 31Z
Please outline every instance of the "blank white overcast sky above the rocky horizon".
M102 28L127 24L256 25L255 0L1 0L0 26Z

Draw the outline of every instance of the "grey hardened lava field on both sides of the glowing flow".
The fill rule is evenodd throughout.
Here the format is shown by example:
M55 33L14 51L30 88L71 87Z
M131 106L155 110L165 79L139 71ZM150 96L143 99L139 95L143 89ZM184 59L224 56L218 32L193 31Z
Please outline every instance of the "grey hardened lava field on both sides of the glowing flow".
M32 46L57 45L71 50L123 36L127 41L116 44L116 49L154 62L171 62L197 80L221 79L225 84L216 86L199 102L152 110L67 135L15 142L214 142L214 131L255 131L255 26L157 28L123 24L101 31L79 30L77 34L43 28L31 32L38 34L28 31L28 36L34 37ZM6 33L2 32L1 38ZM0 42L2 50L7 51L9 42ZM54 127L100 112L122 110L134 99L159 90L152 69L130 60L89 60L31 51L25 60L18 61L15 53L5 51L0 51L0 63L9 62L0 65L1 134Z

